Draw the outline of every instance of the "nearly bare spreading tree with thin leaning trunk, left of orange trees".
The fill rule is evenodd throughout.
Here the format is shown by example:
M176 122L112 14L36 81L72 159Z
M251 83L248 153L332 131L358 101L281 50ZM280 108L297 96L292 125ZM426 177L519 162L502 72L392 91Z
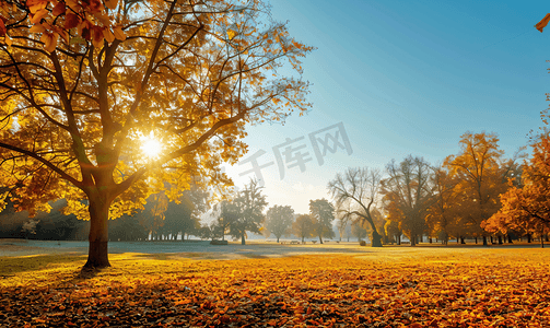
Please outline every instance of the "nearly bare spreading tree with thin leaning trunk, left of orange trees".
M328 183L336 207L346 218L368 222L373 231L371 245L382 247L382 236L374 224L372 210L378 198L382 174L367 167L348 167Z

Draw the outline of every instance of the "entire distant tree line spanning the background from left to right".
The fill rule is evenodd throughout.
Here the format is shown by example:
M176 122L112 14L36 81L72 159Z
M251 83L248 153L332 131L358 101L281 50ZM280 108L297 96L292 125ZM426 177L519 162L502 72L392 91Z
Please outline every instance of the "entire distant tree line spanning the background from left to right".
M518 150L504 157L494 133L467 132L460 151L433 165L408 155L393 160L384 171L349 167L328 183L332 202L309 201L309 212L296 214L290 206L268 208L257 181L225 195L210 209L210 194L199 187L186 190L177 201L161 192L151 196L133 215L109 222L110 241L185 241L189 236L245 244L248 234L274 235L279 242L293 234L301 241L350 236L373 246L423 242L447 244L512 243L525 237L548 241L550 232L550 137L533 137L533 155ZM0 237L86 239L89 222L63 215L62 201L49 214L15 213L8 201L0 213ZM210 211L211 221L201 222Z

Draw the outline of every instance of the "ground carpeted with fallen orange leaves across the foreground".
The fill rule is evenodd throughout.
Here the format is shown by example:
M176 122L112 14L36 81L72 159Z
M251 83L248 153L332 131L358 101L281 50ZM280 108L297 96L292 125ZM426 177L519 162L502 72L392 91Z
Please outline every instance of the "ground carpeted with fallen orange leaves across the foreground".
M2 327L550 327L550 251L363 248L191 260L0 257Z

